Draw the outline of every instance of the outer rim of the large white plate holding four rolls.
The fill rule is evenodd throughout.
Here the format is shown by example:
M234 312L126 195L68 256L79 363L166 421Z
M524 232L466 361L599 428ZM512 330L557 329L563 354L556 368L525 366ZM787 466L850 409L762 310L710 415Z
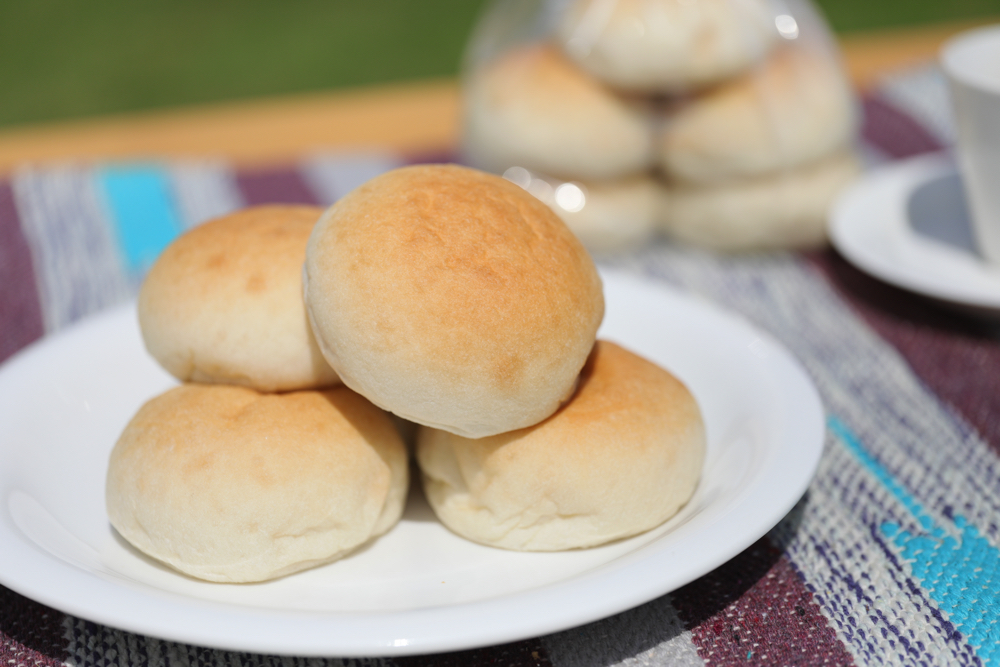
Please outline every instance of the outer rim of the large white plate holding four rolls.
M67 567L65 563L62 563L62 568L59 568L62 570L61 574L63 578L65 579L66 576L69 576L70 582L76 586L82 586L84 589L71 600L65 599L64 594L53 593L52 590L56 587L43 586L39 588L37 583L34 586L25 584L23 580L18 580L16 577L10 576L4 566L0 566L0 583L26 597L47 604L70 615L127 632L221 650L251 651L277 655L336 657L438 653L538 637L606 618L648 602L672 590L676 590L678 587L710 572L715 567L725 563L749 547L754 541L773 528L799 501L815 476L822 455L825 434L823 406L815 385L798 360L774 339L773 336L740 315L694 295L684 293L680 289L662 281L616 270L602 269L601 274L605 281L611 279L619 285L624 285L632 293L644 293L641 295L642 298L666 296L668 300L679 300L689 307L706 313L710 317L721 318L723 322L736 325L744 332L752 333L766 351L770 360L769 371L781 375L782 377L779 379L782 382L790 383L781 385L782 391L780 394L785 396L791 392L794 394L794 398L800 401L800 404L796 406L796 412L798 413L796 422L794 424L783 424L781 429L781 433L784 434L786 439L796 440L797 442L796 447L792 448L789 453L798 457L796 463L799 472L798 477L793 480L793 484L789 484L783 489L783 493L775 494L775 497L770 499L772 506L766 513L769 517L767 521L761 522L759 517L753 517L752 514L750 517L744 518L744 520L752 519L758 528L763 527L764 523L767 524L766 527L763 527L763 530L750 531L753 535L742 535L743 539L734 540L723 547L712 545L709 548L704 543L689 545L689 549L700 551L703 558L700 561L701 564L699 567L688 568L694 574L686 577L684 581L672 583L666 587L663 585L651 586L642 590L637 590L634 585L631 587L626 586L629 589L629 594L623 594L618 589L615 596L613 596L613 600L604 600L599 605L595 604L593 600L586 599L587 596L583 595L586 593L588 586L592 586L595 583L595 579L598 580L597 583L607 588L609 585L621 584L623 579L634 579L637 572L642 568L652 570L654 567L652 561L655 560L654 555L656 555L656 550L652 549L646 555L641 554L656 543L656 540L654 540L641 549L625 554L616 560L604 563L593 570L583 572L569 579L515 592L510 595L423 609L351 613L268 610L214 600L191 598L180 593L165 590L157 591L150 595L151 591L146 584L141 584L146 587L142 590L125 586L124 595L127 602L133 601L135 596L138 596L147 604L153 602L159 605L160 613L158 616L161 618L164 615L168 617L172 615L178 618L182 617L185 613L190 613L193 605L199 612L207 612L213 620L213 623L203 623L203 625L199 626L198 621L192 622L193 619L187 619L181 621L178 625L178 619L175 618L173 619L174 624L166 628L162 627L162 622L151 622L151 619L146 617L137 619L134 615L134 609L131 610L132 613L125 613L124 616L127 616L125 618L121 611L112 612L111 610L95 609L93 604L81 604L81 599L91 598L92 596L94 596L93 599L99 599L102 592L107 592L106 587L113 585L113 583L93 573L75 570L72 566ZM654 296L650 297L651 294ZM36 345L29 346L30 349L36 351L30 352L26 350L23 354L19 353L12 357L8 363L0 367L0 383L6 377L6 370L9 363L30 363L31 355L41 354L42 352L38 352L37 350L44 350L44 346L57 344L56 341L58 339L75 335L75 332L81 326L93 325L96 321L103 318L120 317L121 311L129 310L133 307L132 304L129 304L106 311L69 327L55 336L42 339ZM790 386L791 389L789 388ZM802 443L811 446L802 446ZM787 443L785 444L787 446ZM785 461L785 463L788 462ZM2 544L9 539L8 533L11 528L18 533L19 529L13 525L13 519L7 510L10 492L4 487L0 487L0 491L6 492L3 498L5 501L3 505L5 511L0 516L0 544ZM732 510L737 515L747 514L749 511L748 508L741 507L735 507ZM684 526L678 528L678 530L683 529ZM28 543L27 538L21 539L18 547L20 549L34 549L36 552L43 550L40 545ZM3 551L0 549L0 552ZM45 555L51 561L57 563L56 567L58 568L58 564L61 561L56 556L48 553ZM9 554L0 558L0 563L7 561L9 558ZM48 569L51 569L51 566ZM67 575L67 569L72 571L70 575ZM73 573L75 573L75 576L73 576ZM86 575L82 578L82 581L80 580L80 574ZM119 587L118 592L122 593L121 587ZM537 617L521 613L526 606L552 604L555 601L560 603L563 611L556 617L546 619L547 623L544 621L539 622ZM220 611L224 612L222 616L225 617L227 622L220 623ZM144 613L147 616L149 614L148 610ZM197 615L200 616L201 614ZM454 621L456 618L479 619L476 621L476 625L486 627L490 626L490 624L485 622L485 618L498 617L506 619L508 621L507 624L500 627L493 625L485 631L480 630L472 638L469 638L468 635L456 637L453 636L453 633L442 633L440 631L442 626L448 625L449 621ZM529 618L531 618L530 621L528 620ZM331 643L328 639L329 635L323 632L324 629L329 630L328 627L324 628L324 626L329 625L331 622L339 624L341 628L341 632L338 633L339 635L349 633L352 628L370 629L370 626L373 624L389 628L409 628L410 630L408 630L409 634L403 633L402 636L396 636L401 634L398 632L386 632L384 633L386 638L378 642L363 640L352 644L341 640ZM307 633L312 632L312 640L304 641L300 638L289 644L284 641L282 632L277 628L277 626L282 624L287 626L294 625L305 630ZM223 632L220 632L220 626L224 626ZM301 634L301 632L295 633L296 637ZM252 638L248 639L248 637Z

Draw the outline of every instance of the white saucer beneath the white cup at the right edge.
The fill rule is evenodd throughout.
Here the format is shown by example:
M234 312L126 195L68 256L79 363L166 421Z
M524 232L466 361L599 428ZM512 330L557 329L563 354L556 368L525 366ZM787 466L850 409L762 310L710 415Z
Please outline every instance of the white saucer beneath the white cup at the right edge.
M1000 267L981 259L969 242L943 242L914 225L921 215L938 216L926 222L944 233L949 224L968 225L958 183L946 155L876 169L833 207L833 245L858 268L898 287L976 311L1000 311ZM940 199L920 199L935 191Z

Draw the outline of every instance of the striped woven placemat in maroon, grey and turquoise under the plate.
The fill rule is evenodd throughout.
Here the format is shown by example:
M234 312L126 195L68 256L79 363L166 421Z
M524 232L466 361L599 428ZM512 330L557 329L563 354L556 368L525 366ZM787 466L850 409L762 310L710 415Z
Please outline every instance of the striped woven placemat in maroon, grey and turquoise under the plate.
M938 72L863 100L873 160L951 137ZM329 204L426 158L315 155L25 167L0 183L0 359L131 298L181 230L264 202ZM1000 664L1000 329L879 283L833 251L720 257L653 244L600 260L735 310L803 363L828 411L819 472L766 536L668 595L583 627L433 656L233 653L74 618L0 587L0 664Z

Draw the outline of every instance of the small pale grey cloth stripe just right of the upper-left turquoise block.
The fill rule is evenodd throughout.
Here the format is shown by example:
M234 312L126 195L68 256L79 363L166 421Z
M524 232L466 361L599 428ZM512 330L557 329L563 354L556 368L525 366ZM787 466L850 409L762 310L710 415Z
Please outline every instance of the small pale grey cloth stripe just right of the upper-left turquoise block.
M169 167L185 229L245 205L233 170L222 161L179 162Z

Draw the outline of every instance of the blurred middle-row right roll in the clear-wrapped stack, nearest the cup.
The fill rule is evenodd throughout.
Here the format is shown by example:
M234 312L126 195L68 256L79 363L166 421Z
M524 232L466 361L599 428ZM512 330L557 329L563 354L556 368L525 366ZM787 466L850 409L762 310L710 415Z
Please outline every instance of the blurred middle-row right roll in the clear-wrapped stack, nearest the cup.
M804 47L712 89L669 118L659 142L664 172L719 183L798 167L847 147L854 101L834 60Z

